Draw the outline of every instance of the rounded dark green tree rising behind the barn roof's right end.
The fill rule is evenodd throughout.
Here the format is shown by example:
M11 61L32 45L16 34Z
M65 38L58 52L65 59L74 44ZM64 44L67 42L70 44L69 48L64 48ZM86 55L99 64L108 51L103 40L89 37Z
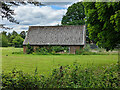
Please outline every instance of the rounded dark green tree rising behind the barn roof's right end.
M62 18L62 25L84 25L85 12L82 2L74 3L68 7L67 13Z

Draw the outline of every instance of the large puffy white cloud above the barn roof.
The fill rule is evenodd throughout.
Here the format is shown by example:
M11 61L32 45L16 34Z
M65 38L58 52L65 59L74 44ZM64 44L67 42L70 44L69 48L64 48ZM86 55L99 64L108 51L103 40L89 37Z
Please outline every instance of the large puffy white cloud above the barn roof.
M49 25L53 22L57 24L62 20L66 11L66 9L54 10L50 6L19 6L15 9L17 14L15 18L20 21L21 25Z

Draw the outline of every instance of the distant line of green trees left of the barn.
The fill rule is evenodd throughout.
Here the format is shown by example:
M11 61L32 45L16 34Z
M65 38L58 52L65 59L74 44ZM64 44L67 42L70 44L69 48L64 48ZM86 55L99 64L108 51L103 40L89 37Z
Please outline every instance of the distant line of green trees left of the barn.
M2 47L8 47L8 46L14 46L14 47L22 47L23 41L26 36L25 31L22 31L20 34L18 34L16 31L13 31L12 33L8 33L3 31L0 33L1 35L1 45Z

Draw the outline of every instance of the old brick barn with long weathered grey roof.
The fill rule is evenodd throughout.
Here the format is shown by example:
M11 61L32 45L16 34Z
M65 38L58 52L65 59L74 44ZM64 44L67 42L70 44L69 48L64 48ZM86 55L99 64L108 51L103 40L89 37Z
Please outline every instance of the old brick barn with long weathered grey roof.
M30 44L34 50L39 46L68 46L69 53L85 46L85 25L69 26L30 26L23 42L23 52Z

